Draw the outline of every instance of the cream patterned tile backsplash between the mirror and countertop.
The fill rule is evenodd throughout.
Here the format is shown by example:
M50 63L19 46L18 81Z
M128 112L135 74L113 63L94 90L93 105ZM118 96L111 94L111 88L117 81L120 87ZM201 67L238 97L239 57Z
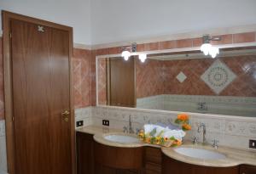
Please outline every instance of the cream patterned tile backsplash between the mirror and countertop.
M177 118L177 112L172 111L105 106L76 109L76 121L83 120L84 126L102 126L102 120L108 120L110 127L124 130L129 125L129 115L134 132L143 128L145 123L169 124ZM185 139L198 137L202 141L201 133L197 132L200 123L205 123L207 127L207 143L218 140L219 145L248 149L249 139L256 139L256 118L194 113L189 113L189 116L192 130Z

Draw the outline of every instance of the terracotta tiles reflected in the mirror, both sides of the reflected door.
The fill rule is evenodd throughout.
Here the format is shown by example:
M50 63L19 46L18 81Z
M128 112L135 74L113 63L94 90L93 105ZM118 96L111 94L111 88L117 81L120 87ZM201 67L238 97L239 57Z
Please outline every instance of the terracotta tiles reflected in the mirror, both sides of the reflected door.
M215 93L201 76L217 60L235 74L235 79L220 93ZM98 60L99 104L106 104L106 60ZM136 59L137 98L160 94L211 95L211 96L256 96L256 55L240 55L219 59ZM177 76L182 73L184 81Z

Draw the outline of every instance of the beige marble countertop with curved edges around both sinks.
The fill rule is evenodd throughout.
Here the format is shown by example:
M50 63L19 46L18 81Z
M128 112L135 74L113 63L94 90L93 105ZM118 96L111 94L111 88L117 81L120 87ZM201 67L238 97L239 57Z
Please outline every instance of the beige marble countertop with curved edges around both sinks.
M202 160L202 159L196 159L189 156L185 156L183 154L178 154L174 150L175 148L165 148L165 147L160 147L158 145L153 145L148 143L115 143L103 138L104 136L110 135L113 133L119 134L119 135L125 134L118 129L113 129L113 128L104 127L104 126L84 126L82 128L78 128L76 131L92 134L94 135L93 138L97 143L102 143L108 146L123 147L123 148L151 146L151 147L159 148L161 149L163 154L166 154L166 156L169 156L174 160L179 160L192 165L228 167L228 166L238 166L241 164L246 164L246 165L256 166L256 152L251 150L232 149L232 148L222 147L222 146L218 147L218 149L214 149L212 148L211 145L202 145L201 143L193 144L191 142L185 142L183 143L183 145L180 146L180 147L189 147L189 148L197 148L197 149L207 149L207 150L211 150L211 151L226 155L226 158L222 160ZM127 135L127 133L125 135ZM130 136L134 136L134 135L130 135Z

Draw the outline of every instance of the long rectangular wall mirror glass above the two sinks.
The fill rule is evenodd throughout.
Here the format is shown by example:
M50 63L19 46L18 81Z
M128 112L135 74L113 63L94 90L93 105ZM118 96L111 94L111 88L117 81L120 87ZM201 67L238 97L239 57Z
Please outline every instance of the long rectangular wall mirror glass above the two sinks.
M256 47L96 59L97 104L256 117Z

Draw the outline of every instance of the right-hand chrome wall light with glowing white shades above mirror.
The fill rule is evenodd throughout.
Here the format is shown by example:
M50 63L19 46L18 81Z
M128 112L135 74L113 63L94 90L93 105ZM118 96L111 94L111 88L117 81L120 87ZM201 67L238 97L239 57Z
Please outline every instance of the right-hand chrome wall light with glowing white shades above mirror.
M220 41L221 37L219 36L214 36L211 37L209 35L204 35L202 37L203 44L201 45L201 52L203 52L205 55L211 55L212 58L216 58L216 56L219 53L218 48L213 47L212 44L210 43L211 41Z

